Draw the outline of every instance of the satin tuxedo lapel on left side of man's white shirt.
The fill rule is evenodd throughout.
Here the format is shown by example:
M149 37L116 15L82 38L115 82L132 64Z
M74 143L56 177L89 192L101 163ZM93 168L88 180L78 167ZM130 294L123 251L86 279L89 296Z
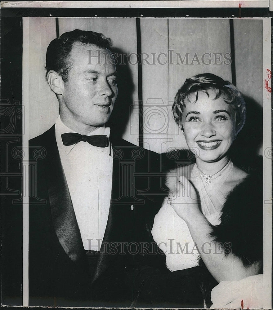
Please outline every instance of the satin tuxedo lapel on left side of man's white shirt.
M65 253L77 265L87 268L86 255L74 213L55 138L55 125L44 135L46 174L51 216L56 235Z

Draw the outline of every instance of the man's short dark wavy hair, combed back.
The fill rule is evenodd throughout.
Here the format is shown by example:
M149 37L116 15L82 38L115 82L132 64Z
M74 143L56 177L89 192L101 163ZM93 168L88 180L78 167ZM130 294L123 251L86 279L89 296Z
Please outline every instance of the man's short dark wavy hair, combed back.
M76 42L94 44L103 49L109 49L112 46L111 39L106 38L102 33L79 29L65 32L59 38L51 41L47 47L46 79L48 71L54 70L64 82L68 81L69 70L73 66L70 52Z

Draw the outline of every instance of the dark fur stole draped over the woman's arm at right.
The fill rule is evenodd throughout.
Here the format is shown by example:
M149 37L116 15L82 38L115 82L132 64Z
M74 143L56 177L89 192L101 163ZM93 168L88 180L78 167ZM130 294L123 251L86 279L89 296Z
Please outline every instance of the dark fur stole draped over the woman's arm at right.
M238 165L239 166L239 165ZM263 272L263 168L262 157L256 157L255 165L241 166L249 176L228 195L222 208L221 224L211 226L211 237L222 247L226 255L230 252L239 257L245 267L260 263ZM202 291L207 307L211 305L210 293L218 282L208 272L202 259Z

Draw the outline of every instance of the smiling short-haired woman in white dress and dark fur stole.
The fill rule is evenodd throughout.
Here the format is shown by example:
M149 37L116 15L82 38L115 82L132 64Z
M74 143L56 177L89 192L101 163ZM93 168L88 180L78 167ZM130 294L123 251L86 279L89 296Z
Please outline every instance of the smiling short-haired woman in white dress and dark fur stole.
M217 282L262 273L262 176L229 156L245 122L241 93L220 77L199 74L179 89L172 111L196 162L169 171L169 196L154 218L151 233L167 268L183 270L186 279L186 271L203 266L205 293Z

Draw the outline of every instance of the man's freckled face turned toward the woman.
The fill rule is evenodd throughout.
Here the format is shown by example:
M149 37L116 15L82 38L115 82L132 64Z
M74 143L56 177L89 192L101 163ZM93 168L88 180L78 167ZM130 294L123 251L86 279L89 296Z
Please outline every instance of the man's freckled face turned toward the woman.
M61 119L67 126L76 125L84 130L101 126L109 120L118 95L111 52L93 44L76 42L70 56L72 67L62 91Z

